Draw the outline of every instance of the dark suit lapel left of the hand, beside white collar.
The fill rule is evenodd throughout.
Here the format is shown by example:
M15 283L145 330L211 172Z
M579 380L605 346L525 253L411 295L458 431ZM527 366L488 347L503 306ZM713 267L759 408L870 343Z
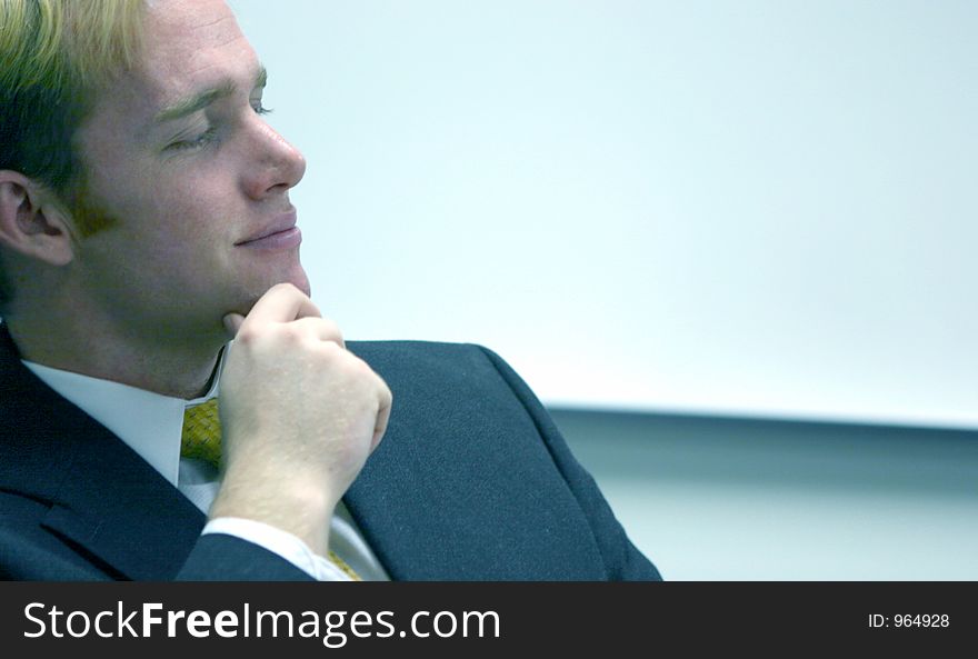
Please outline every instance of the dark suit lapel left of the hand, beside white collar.
M50 506L41 526L116 577L176 576L204 516L118 437L38 379L0 324L0 488Z

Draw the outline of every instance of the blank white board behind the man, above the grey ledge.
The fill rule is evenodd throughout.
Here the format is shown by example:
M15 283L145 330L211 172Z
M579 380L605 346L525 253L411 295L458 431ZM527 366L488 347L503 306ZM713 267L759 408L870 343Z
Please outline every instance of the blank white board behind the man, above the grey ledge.
M545 402L978 428L978 3L232 1L348 339Z

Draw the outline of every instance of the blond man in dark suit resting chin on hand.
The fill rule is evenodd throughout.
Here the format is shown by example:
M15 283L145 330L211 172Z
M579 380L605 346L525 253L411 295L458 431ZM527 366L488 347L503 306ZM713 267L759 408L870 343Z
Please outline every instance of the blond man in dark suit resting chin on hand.
M659 577L497 356L321 317L222 0L0 2L0 575Z

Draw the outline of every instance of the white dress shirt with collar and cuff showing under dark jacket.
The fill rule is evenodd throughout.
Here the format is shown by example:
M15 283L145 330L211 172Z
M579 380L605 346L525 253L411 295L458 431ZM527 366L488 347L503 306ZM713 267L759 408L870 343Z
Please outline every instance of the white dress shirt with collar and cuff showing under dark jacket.
M223 352L210 391L193 400L161 396L26 360L23 365L51 389L116 433L207 515L220 488L220 473L204 461L181 458L180 441L183 411L218 396ZM203 533L227 533L259 545L320 581L350 580L335 563L313 553L296 536L262 522L218 518L208 521ZM365 581L390 579L342 501L330 520L329 548Z

